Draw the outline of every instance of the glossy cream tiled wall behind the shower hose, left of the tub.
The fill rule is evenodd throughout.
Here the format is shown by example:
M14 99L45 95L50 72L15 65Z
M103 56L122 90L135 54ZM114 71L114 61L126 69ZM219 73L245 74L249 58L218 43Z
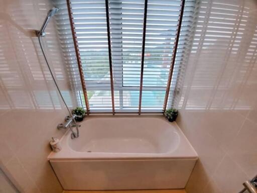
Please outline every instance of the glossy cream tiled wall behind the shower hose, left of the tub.
M62 192L47 156L51 137L63 135L56 126L68 112L33 32L50 8L47 0L0 1L0 163L22 192ZM51 21L43 42L72 107L74 98L55 29Z

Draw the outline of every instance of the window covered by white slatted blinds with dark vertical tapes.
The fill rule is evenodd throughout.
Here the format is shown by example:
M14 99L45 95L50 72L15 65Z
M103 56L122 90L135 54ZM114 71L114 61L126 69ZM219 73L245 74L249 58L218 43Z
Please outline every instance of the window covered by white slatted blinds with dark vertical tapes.
M174 105L195 1L71 0L68 12L64 2L57 6L81 106L89 112L144 113Z

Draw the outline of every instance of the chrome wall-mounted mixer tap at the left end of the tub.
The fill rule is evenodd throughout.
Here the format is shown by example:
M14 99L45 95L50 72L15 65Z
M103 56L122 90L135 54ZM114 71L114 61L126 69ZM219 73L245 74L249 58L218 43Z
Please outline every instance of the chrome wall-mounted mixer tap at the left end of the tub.
M57 126L58 129L67 129L67 128L69 128L70 131L71 131L71 139L78 138L78 136L79 136L78 128L80 127L80 125L78 125L76 123L76 121L75 121L76 117L80 117L80 116L78 116L78 115L72 115L72 117L66 116L65 117L65 123L64 124L60 123ZM77 133L75 133L73 131L73 129L72 129L73 127L76 127Z

